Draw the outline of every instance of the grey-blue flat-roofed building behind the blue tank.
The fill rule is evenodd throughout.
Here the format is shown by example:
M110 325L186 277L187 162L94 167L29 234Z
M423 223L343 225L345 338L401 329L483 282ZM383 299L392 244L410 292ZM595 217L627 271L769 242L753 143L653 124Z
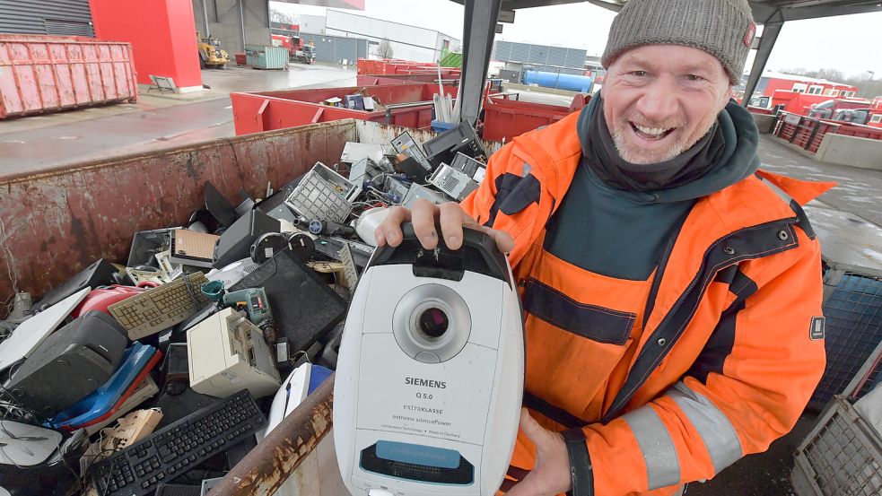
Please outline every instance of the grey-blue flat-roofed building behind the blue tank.
M585 73L586 51L581 48L549 47L530 43L497 40L491 59L504 62L512 73L545 71L549 73L582 75Z

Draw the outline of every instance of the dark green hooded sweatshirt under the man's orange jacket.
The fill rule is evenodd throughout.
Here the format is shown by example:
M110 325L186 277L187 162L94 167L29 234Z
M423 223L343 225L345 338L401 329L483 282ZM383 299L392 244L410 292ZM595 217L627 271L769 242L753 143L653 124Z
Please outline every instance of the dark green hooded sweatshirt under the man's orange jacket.
M599 100L596 95L579 117L583 151ZM726 141L720 159L701 177L677 187L636 191L609 184L591 170L583 152L572 185L549 224L546 250L595 274L648 279L695 201L747 178L759 166L759 133L747 109L729 101L717 123Z

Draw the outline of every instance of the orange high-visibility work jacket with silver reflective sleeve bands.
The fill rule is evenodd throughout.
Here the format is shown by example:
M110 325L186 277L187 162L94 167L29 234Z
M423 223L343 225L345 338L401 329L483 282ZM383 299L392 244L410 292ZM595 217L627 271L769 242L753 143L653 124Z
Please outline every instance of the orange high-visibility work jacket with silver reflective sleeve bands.
M630 329L633 316L564 294L553 274L537 280L533 266L537 239L581 160L577 117L503 146L462 206L515 241L510 261L527 315L524 405L563 431L572 494L672 494L764 451L790 431L817 386L825 367L821 254L799 204L832 185L758 172L765 181L751 176L699 199L659 262L642 332L628 344L601 342L568 327ZM590 379L607 387L596 414L586 415L586 377L600 364L580 354L629 361L622 380ZM521 474L515 467L533 466L524 439L511 461Z

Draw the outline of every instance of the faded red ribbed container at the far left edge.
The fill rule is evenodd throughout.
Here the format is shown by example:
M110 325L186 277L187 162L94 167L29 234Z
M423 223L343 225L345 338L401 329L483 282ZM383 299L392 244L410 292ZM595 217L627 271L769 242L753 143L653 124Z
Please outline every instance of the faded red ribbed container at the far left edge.
M130 43L0 34L0 118L137 98Z

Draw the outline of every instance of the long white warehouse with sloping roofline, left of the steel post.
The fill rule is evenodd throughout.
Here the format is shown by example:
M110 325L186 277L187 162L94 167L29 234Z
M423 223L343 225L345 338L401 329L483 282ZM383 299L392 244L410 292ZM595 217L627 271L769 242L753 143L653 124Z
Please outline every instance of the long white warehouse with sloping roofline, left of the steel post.
M367 39L371 58L381 58L380 41L389 39L392 57L415 62L437 62L445 49L457 51L460 44L440 31L335 10L327 11L324 34Z

